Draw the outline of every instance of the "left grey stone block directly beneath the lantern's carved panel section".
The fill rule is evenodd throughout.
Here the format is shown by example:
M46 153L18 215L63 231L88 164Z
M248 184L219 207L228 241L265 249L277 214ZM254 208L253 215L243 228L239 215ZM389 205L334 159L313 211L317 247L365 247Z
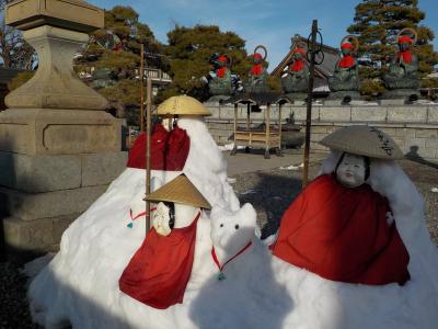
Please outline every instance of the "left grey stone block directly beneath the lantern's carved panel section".
M30 193L77 189L81 185L81 159L0 151L0 185Z

